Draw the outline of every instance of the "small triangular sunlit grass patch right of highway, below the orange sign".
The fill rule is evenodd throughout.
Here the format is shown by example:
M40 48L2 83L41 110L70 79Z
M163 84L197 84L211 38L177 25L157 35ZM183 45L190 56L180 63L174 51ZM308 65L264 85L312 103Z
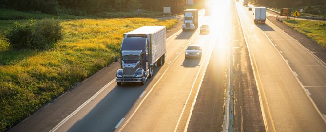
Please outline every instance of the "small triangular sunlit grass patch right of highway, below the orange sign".
M294 30L311 38L326 49L326 21L283 20Z

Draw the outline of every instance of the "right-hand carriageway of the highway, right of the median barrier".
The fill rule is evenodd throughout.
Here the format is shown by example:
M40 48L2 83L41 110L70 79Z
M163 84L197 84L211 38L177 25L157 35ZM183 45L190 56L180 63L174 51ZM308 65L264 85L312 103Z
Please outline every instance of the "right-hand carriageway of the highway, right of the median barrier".
M255 25L247 7L237 8L268 131L324 132L325 118L307 90L325 86L324 64L269 20Z

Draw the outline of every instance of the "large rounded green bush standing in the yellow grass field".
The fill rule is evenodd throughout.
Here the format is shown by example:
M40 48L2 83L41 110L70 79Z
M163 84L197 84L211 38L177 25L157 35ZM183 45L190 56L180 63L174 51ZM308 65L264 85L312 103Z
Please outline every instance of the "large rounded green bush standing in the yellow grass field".
M55 19L31 19L21 24L15 22L5 33L12 49L49 49L63 38L62 25Z

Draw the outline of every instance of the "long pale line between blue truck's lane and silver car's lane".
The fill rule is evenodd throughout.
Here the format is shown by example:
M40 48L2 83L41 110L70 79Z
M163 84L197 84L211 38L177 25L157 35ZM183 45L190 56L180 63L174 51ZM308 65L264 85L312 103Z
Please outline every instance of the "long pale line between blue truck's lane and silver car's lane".
M198 30L195 31L195 33L197 32ZM194 33L194 34L195 34ZM193 37L194 38L194 37ZM187 45L189 45L193 38L191 39L191 41L189 41L187 43ZM183 49L181 49L182 51ZM178 54L172 61L172 63L177 59L179 58L181 54ZM162 77L165 75L165 73L168 71L168 69L171 67L172 65L169 65L166 70L163 72L162 76L157 80L157 82L155 82L155 84L153 85L153 87L150 89L150 91L148 91L148 93L146 94L146 96L140 101L140 103L138 104L138 106L136 107L136 109L134 110L134 112L129 116L129 118L126 120L126 122L122 125L122 127L119 129L118 132L121 132L123 130L123 128L128 124L128 122L131 120L131 118L133 118L134 114L137 112L137 110L139 109L139 107L143 104L143 102L145 101L145 99L148 97L148 95L152 92L152 90L155 88L155 86L157 85L158 82L160 82L160 80L162 79Z

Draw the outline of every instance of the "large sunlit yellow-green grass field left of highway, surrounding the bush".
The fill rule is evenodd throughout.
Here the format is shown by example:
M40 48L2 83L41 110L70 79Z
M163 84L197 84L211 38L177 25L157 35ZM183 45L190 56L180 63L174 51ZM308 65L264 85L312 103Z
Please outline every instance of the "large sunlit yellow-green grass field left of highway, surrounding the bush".
M11 16L0 14L3 17ZM44 17L53 15L27 13L22 19ZM15 20L0 20L0 132L113 62L114 56L119 55L123 33L141 26L165 25L170 29L177 24L174 19L55 18L61 18L65 35L49 50L10 49L3 34Z

